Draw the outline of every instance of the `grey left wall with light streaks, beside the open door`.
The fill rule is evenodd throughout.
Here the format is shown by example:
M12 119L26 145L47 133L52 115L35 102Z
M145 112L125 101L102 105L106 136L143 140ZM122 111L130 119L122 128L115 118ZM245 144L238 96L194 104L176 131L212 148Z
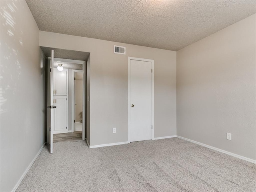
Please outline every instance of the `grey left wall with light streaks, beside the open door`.
M45 58L26 1L0 6L0 191L6 192L45 142Z

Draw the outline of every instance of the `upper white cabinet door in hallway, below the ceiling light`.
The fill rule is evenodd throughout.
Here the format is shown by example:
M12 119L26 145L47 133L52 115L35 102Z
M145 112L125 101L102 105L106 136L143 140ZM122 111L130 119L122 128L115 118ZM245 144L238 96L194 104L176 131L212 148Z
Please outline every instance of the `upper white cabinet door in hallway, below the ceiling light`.
M54 95L67 95L67 75L68 70L58 71L54 68Z

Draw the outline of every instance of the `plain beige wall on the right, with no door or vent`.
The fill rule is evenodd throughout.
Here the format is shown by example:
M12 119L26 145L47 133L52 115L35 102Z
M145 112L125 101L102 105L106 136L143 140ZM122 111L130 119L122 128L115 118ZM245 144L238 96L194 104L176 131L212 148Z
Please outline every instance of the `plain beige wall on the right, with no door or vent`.
M177 135L256 160L255 65L255 14L179 50Z

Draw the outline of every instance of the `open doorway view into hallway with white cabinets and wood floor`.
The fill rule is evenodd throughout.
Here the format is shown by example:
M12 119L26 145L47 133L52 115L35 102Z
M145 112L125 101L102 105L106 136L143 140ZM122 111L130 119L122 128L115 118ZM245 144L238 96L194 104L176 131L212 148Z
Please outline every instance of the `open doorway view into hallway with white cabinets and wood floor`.
M54 58L54 104L57 106L54 110L54 133L53 143L69 140L82 140L83 135L83 65L85 61L67 60ZM58 66L62 66L58 71ZM63 88L61 88L63 87ZM66 91L66 103L60 107L59 98L63 98L62 92ZM67 110L66 110L67 109ZM66 111L66 113L65 113ZM66 121L65 121L65 118ZM65 124L66 122L66 124ZM85 122L85 121L84 121ZM61 127L58 127L60 124ZM66 130L65 130L66 126Z

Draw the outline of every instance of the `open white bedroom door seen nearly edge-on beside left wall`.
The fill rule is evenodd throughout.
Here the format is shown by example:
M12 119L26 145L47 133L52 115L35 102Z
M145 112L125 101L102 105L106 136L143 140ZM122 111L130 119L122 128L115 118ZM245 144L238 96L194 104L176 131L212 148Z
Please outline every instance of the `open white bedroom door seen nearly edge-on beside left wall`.
M53 149L53 130L54 130L54 109L56 106L53 106L53 62L54 62L54 51L52 50L52 57L50 61L50 74L48 78L48 113L47 113L47 143L50 143L50 153Z

